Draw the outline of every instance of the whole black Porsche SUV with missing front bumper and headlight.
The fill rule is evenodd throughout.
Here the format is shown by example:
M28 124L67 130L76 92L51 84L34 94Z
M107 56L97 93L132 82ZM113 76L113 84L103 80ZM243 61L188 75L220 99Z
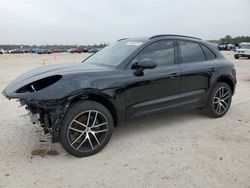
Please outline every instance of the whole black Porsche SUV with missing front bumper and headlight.
M53 142L77 157L99 152L122 122L178 109L228 111L236 71L218 49L179 35L126 38L82 63L44 66L3 94L19 99Z

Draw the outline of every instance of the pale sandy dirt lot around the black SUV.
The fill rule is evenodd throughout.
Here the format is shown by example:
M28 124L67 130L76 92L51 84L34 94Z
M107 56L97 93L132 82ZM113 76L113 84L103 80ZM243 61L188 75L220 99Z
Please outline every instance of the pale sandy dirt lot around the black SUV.
M0 187L250 187L250 60L234 60L231 109L220 119L197 111L159 114L114 131L106 148L74 158L0 95ZM38 66L87 54L0 55L0 90Z

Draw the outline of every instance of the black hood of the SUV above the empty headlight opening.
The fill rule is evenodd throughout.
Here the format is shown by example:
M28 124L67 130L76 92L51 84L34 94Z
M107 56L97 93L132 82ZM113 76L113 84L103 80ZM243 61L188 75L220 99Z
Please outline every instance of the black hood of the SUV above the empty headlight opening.
M5 88L3 94L6 97L14 96L13 94L21 87L50 76L55 76L55 75L64 76L67 74L104 72L109 70L111 70L111 68L94 64L85 64L85 63L71 63L71 64L43 66L28 71L19 76L18 78L16 78Z

